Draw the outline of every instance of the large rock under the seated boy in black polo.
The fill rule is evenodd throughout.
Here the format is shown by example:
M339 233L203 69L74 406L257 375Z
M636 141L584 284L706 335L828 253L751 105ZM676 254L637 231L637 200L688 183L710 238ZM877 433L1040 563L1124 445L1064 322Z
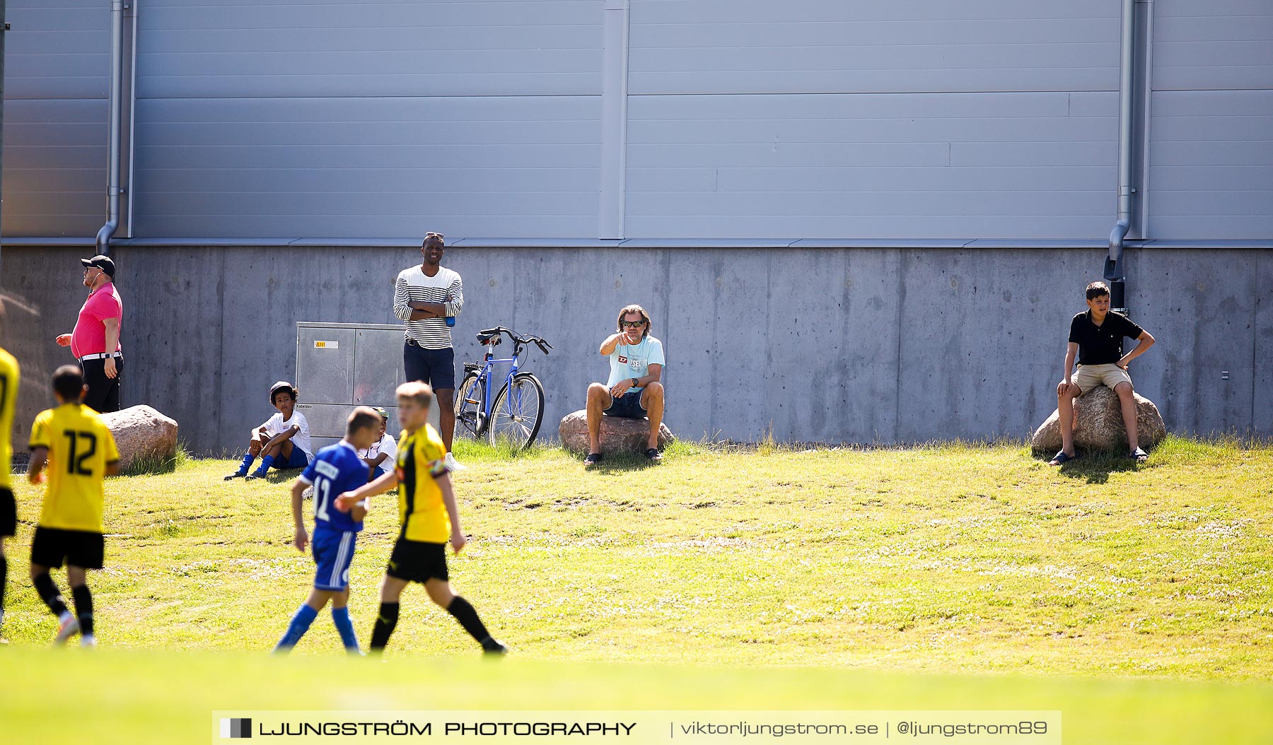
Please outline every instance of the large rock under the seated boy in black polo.
M1162 414L1153 402L1138 393L1136 397L1136 434L1141 448L1157 445L1167 436ZM1060 412L1053 411L1035 430L1030 445L1035 453L1051 454L1060 450ZM1127 428L1118 394L1097 385L1074 399L1074 448L1080 450L1127 451Z

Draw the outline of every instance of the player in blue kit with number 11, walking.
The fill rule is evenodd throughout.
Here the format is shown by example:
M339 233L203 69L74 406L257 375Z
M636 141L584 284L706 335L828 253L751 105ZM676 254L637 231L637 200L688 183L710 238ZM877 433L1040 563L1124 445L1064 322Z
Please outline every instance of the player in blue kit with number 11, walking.
M313 554L318 570L314 573L309 598L297 609L286 633L279 639L275 652L288 652L309 631L318 612L331 600L331 620L340 632L345 651L356 655L358 638L354 622L349 618L349 564L354 561L358 533L363 529L367 502L359 502L348 511L334 509L337 495L367 484L367 464L358 456L360 449L370 446L382 430L381 416L360 406L345 421L345 439L318 451L314 461L292 486L292 520L297 526L294 544L304 550L309 543L306 521L300 515L302 493L313 487L314 539Z

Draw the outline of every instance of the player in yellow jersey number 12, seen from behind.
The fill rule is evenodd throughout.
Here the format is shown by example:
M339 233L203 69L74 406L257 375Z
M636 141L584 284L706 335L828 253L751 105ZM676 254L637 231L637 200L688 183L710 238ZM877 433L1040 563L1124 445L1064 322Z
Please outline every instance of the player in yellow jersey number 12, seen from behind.
M53 371L57 408L39 412L31 426L31 483L46 481L45 505L31 543L31 581L48 610L57 617L55 643L65 645L76 632L80 645L95 647L93 595L85 570L104 566L102 537L102 481L120 473L120 451L102 416L80 403L88 388L76 365ZM75 600L75 615L66 609L57 585L48 576L66 563L66 581Z

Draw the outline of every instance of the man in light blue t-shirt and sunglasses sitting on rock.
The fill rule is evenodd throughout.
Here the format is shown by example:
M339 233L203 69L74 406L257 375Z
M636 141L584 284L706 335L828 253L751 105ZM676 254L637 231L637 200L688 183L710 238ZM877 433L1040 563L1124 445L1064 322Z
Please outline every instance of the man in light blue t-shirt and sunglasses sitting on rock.
M601 463L601 417L640 420L649 417L645 458L658 454L658 426L663 422L663 342L649 336L649 314L640 305L619 311L619 333L601 342L601 355L610 357L610 380L588 386L588 456L584 465Z

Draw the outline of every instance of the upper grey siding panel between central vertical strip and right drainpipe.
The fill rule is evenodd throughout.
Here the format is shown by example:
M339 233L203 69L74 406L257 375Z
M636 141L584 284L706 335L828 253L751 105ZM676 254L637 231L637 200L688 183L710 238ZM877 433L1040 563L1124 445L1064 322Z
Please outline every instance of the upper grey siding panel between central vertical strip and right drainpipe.
M1110 90L1108 0L633 0L630 90Z

